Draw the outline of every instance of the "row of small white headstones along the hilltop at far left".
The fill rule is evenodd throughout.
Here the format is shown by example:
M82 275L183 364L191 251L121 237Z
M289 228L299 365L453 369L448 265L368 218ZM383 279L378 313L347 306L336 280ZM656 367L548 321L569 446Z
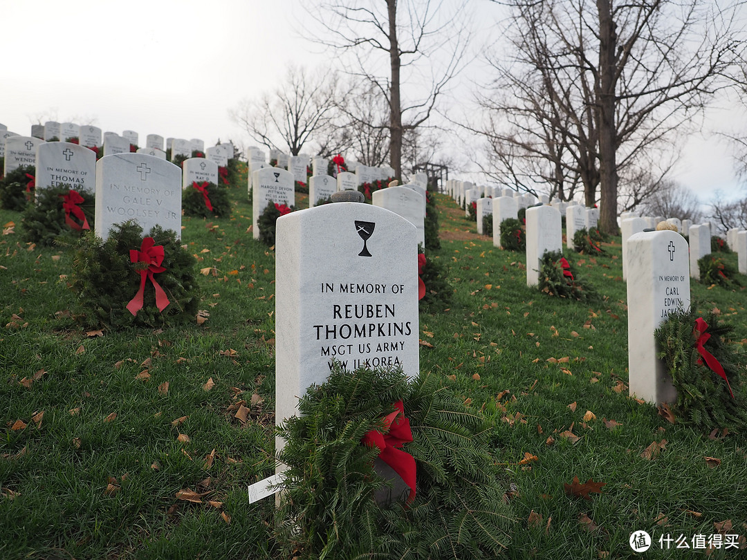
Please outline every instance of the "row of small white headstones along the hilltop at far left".
M15 138L15 140L11 141L12 138ZM4 172L7 173L19 167L17 163L19 158L25 157L28 160L28 152L31 152L40 141L49 141L52 138L58 138L58 140L78 138L80 146L102 148L103 155L114 155L130 152L131 145L138 146L139 135L136 131L125 130L121 135L116 132L104 132L102 136L102 130L97 126L79 126L72 122L49 121L44 125L31 125L31 136L25 137L8 131L7 126L0 124L0 158L7 159L10 157L14 161L10 169L7 169L6 164ZM29 141L31 141L31 148L26 146ZM148 134L145 147L138 148L137 152L166 159L167 151L171 150L172 161L178 156L190 158L193 152L202 152L205 154L205 158L213 161L218 167L226 167L234 154L232 143L221 143L218 146L211 146L207 150L205 150L205 143L199 138L193 138L192 140L166 138L165 143L166 151L164 151L164 137L158 134ZM23 150L23 147L26 149ZM21 165L28 165L28 162Z

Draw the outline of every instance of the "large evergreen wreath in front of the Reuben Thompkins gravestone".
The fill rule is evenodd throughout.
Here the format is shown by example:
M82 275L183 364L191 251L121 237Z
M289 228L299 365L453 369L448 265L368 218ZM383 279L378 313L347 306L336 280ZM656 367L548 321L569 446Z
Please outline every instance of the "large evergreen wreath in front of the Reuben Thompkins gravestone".
M373 468L378 449L361 443L401 400L413 441L415 500L377 505L385 482ZM296 559L494 559L509 545L512 519L505 483L489 449L491 426L433 375L408 382L401 370L343 370L285 419L288 465L276 523L279 542Z

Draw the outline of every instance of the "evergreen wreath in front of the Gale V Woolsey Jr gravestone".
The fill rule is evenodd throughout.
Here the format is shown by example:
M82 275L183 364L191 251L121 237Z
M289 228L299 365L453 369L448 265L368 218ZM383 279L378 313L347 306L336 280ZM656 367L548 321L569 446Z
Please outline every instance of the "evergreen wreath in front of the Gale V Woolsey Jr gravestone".
M172 230L153 226L149 237L155 246L163 246L165 270L153 279L163 288L169 305L163 311L156 306L155 286L146 281L143 308L133 315L128 302L138 293L143 263L131 261L131 250L143 245L143 228L129 220L114 225L103 241L93 231L75 246L71 290L77 296L76 318L87 328L122 329L131 326L160 327L194 320L199 305L195 260L182 248Z

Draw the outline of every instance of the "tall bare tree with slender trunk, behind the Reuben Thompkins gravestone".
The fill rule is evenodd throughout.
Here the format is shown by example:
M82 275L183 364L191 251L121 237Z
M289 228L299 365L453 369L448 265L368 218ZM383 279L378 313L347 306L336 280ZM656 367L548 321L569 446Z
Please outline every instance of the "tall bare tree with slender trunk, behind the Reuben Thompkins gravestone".
M466 1L353 0L309 4L323 29L317 42L350 53L348 72L388 105L389 164L402 175L403 138L423 125L459 70L469 34ZM376 127L379 123L372 123Z

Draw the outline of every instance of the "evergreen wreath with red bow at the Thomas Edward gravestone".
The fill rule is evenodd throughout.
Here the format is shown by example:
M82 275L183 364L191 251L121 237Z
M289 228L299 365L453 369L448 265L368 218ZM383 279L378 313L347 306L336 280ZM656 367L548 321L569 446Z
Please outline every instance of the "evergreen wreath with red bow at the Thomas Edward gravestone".
M81 199L82 202L76 202ZM75 207L80 210L73 208L67 213L65 205L68 200L75 202ZM70 244L84 234L85 223L93 229L95 209L96 195L69 184L38 189L36 203L29 204L23 211L23 238L43 246ZM80 217L80 211L85 221Z

